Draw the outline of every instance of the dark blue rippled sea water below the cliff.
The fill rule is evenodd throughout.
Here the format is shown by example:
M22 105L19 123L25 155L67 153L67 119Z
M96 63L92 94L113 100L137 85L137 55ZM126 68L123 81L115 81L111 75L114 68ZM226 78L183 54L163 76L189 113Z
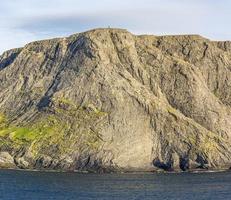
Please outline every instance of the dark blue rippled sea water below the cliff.
M77 174L0 170L0 200L231 200L231 173Z

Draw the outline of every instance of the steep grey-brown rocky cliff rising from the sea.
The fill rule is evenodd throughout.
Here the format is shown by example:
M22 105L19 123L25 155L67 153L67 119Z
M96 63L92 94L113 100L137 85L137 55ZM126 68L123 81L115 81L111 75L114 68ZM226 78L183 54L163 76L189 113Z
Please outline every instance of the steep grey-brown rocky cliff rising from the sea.
M231 167L231 42L97 29L0 57L0 166Z

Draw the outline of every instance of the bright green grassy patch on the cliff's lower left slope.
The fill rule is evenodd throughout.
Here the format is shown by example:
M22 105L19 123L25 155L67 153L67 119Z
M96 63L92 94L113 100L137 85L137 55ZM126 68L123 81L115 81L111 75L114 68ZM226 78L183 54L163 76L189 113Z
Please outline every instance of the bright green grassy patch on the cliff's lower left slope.
M54 113L42 115L22 127L8 125L1 114L0 149L27 147L34 156L71 153L78 145L97 149L102 139L96 124L105 113L93 105L78 107L64 98L56 103Z

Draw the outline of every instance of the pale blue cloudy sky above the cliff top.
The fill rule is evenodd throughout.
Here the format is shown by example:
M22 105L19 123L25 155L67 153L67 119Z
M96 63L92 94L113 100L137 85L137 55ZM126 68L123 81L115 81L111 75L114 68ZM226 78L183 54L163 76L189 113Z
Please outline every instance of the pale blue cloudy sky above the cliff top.
M230 0L2 0L0 53L98 27L231 40Z

